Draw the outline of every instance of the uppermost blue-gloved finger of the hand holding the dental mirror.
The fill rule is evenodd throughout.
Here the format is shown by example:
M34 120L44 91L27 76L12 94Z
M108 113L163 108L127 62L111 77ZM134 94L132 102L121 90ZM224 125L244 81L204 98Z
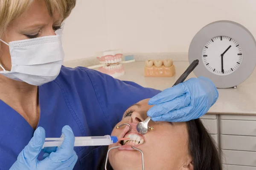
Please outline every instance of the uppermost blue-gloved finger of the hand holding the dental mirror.
M180 83L176 86L165 89L162 92L158 93L157 95L149 99L148 104L154 105L171 101L177 97L180 97L181 95L184 95L186 92L186 87L182 83Z

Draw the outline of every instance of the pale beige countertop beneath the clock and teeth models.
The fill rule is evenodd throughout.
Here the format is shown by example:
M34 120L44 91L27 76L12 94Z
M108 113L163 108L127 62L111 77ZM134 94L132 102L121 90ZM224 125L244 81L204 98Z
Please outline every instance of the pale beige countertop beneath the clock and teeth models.
M134 81L144 87L166 89L172 87L179 76L189 66L188 61L174 61L176 74L172 78L144 77L143 61L125 63L125 75L118 77L120 80ZM188 78L196 77L192 72ZM187 78L187 79L188 79ZM219 98L209 109L207 114L235 114L256 115L256 70L253 74L238 85L236 89L218 89Z

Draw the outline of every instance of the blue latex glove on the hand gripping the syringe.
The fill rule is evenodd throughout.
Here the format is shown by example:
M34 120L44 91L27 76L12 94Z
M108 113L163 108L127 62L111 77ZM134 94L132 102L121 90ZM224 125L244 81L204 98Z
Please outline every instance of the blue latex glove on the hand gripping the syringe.
M38 155L44 145L45 131L44 128L38 127L10 170L72 170L78 159L74 151L75 136L69 126L64 126L62 133L64 141L61 147L39 161Z

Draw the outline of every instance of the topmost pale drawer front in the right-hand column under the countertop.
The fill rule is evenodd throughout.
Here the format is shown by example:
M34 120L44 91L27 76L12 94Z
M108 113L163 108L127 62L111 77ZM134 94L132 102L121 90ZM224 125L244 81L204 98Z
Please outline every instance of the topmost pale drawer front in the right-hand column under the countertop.
M221 120L221 134L256 136L256 121Z

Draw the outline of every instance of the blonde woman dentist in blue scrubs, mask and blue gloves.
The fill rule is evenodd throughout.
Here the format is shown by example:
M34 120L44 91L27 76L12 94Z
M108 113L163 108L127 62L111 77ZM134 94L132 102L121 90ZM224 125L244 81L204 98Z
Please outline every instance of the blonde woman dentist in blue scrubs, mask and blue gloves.
M218 98L207 78L160 92L61 66L64 52L55 31L75 4L0 0L0 170L93 170L102 147L74 147L74 136L111 134L125 109L145 98L155 105L148 111L152 121L199 118ZM41 152L45 137L61 133L60 148Z

